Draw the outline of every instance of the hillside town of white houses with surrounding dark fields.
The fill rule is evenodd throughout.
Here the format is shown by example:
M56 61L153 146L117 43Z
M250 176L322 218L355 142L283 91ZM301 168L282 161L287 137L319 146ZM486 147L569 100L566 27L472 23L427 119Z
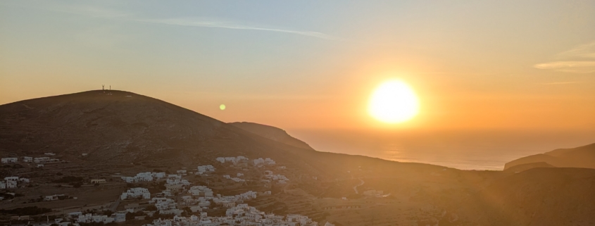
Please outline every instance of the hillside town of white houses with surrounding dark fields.
M4 191L0 196L2 222L45 226L334 225L318 222L323 219L321 215L289 213L287 207L275 206L275 194L284 193L294 175L291 169L277 165L271 158L217 157L213 165L196 165L196 168L89 172L81 176L67 175L76 166L64 167L69 165L68 161L54 158L55 153L45 155L1 158L3 169L9 168L17 174L0 182ZM26 175L33 179L27 179ZM45 195L31 196L40 188ZM85 197L87 201L82 202L81 196L96 198ZM8 206L21 207L8 209Z

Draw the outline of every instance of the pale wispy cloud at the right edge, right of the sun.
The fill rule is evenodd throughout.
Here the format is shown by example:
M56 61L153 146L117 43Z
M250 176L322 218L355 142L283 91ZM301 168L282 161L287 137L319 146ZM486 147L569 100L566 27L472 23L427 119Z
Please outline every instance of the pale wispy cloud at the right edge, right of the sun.
M595 42L563 51L556 58L561 61L538 63L533 67L565 73L595 73Z

